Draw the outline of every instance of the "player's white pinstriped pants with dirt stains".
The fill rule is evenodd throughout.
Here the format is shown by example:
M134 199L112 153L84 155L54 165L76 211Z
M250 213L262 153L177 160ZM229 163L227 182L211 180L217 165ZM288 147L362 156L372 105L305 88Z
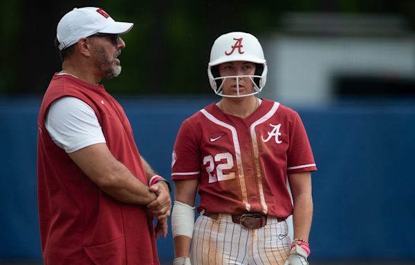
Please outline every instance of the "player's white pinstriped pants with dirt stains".
M268 217L266 226L248 229L232 222L200 215L194 224L190 259L196 264L279 264L290 253L291 237L286 221Z

